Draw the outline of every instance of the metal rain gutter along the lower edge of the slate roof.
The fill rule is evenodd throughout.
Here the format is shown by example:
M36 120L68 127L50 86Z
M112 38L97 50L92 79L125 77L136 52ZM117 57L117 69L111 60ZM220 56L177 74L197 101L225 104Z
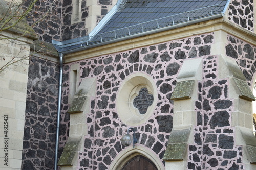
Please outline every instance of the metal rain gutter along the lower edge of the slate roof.
M115 42L119 42L119 41L124 41L127 39L137 38L137 37L141 37L141 36L145 36L145 35L150 35L150 34L159 33L159 32L163 32L163 31L167 31L167 30L172 30L172 29L176 29L176 28L180 28L180 27L185 27L185 26L193 25L195 23L221 18L223 16L224 16L224 13L220 13L220 14L211 15L211 16L207 16L204 18L200 18L200 19L189 20L186 22L178 23L176 25L172 25L172 26L167 26L167 27L163 27L163 28L159 28L159 29L155 29L155 30L151 30L151 31L141 32L141 33L137 33L134 35L129 35L129 36L121 37L121 38L112 39L109 41L99 42L99 43L92 44L92 45L82 46L84 44L84 42L81 42L79 47L75 47L73 49L67 49L67 50L65 50L66 47L61 48L62 45L67 46L67 44L65 42L63 43L63 42L53 40L52 43L58 49L58 51L60 51L62 54L70 54L70 53L75 53L78 51L83 51L83 50L87 50L87 49L102 46L102 45L107 45L107 44L111 44L111 43L115 43ZM77 42L74 41L73 44L77 44ZM70 46L67 48L72 48L73 44L70 43Z

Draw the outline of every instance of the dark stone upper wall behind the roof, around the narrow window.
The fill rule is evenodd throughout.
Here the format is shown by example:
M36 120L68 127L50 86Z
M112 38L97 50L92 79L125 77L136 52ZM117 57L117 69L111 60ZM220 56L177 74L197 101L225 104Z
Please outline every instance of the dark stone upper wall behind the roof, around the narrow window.
M29 3L29 0L24 1L24 7L28 7ZM108 13L109 8L114 4L111 0L100 0L97 5L101 8L101 14L97 16L95 24ZM71 19L74 12L72 0L65 0L63 3L58 0L38 0L27 20L39 38L46 42L51 43L52 39L65 41L86 36L88 35L88 29L86 29L85 24L89 15L89 6L87 6L87 1L85 0L80 2L80 6L79 17L81 17L81 21L72 23ZM48 11L49 9L50 11ZM40 22L35 23L37 20Z

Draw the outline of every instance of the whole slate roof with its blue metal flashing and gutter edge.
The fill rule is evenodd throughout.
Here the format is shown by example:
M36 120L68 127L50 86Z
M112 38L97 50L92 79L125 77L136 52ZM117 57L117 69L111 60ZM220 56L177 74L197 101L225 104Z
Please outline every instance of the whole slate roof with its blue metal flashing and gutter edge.
M206 17L207 20L215 18L214 16L222 17L229 0L119 0L117 4L114 14L110 18L107 14L103 18L104 22L99 22L97 31L90 33L91 36L63 42L53 41L57 50L64 53L79 51L102 42L140 36L141 33L150 34L152 30L179 23L194 20L200 22L198 19Z

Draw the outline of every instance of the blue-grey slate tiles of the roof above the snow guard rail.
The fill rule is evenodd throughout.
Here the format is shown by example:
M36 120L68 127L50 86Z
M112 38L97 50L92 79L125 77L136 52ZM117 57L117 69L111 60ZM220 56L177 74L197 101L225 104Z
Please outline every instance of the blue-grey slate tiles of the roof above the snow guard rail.
M223 11L225 5L226 1L220 0L127 0L99 31L99 34L188 11L192 12L185 16L185 20L189 15L190 19L193 19L193 16L195 19L196 16L211 15L211 11L212 14L217 14ZM212 7L203 10L210 6ZM179 17L183 16L176 16L176 20Z

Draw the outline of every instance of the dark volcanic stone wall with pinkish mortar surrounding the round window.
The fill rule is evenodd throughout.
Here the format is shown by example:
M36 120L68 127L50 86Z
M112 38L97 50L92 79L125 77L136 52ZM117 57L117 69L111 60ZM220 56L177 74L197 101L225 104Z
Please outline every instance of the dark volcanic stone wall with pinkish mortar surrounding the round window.
M79 153L79 169L108 169L124 148L120 139L127 126L115 108L116 95L121 82L135 72L150 75L158 91L157 107L148 122L137 127L136 138L162 159L173 127L173 104L169 99L177 73L184 59L210 55L213 38L214 34L209 33L79 61L81 80L97 77L97 95L91 99L91 113L87 115L89 131L84 152ZM65 66L65 77L70 65ZM69 80L63 83L63 99L67 101Z

